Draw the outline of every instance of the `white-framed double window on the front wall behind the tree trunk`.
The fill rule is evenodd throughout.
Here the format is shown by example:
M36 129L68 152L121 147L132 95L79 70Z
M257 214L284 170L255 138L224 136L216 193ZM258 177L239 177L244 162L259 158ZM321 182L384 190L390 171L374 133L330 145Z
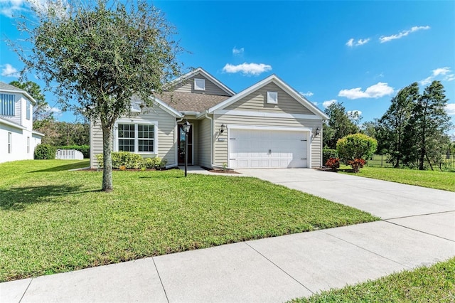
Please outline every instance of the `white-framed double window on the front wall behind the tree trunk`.
M117 124L118 151L154 153L156 144L155 129L155 124Z

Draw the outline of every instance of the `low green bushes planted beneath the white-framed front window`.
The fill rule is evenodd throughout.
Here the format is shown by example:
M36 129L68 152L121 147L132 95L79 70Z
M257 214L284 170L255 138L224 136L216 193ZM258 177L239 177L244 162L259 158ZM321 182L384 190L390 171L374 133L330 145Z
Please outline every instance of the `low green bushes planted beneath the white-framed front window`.
M97 154L98 167L103 168L103 156ZM119 169L124 166L126 169L163 169L166 166L167 160L161 159L159 156L154 158L142 158L140 154L133 154L129 151L113 151L112 152L112 168Z

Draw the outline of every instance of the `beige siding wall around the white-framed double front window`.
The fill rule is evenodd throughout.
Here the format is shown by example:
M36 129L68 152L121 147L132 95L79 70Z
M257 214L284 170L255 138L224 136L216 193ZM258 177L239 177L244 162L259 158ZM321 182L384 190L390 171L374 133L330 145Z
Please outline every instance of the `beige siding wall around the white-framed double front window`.
M158 122L158 154L157 156L166 159L166 165L177 163L176 159L176 118L159 107L144 109L138 117L132 117L132 123L141 121ZM115 136L114 136L115 137ZM92 124L90 132L90 166L97 168L96 154L102 154L102 129L100 123L94 127ZM144 154L144 157L153 157L155 154Z

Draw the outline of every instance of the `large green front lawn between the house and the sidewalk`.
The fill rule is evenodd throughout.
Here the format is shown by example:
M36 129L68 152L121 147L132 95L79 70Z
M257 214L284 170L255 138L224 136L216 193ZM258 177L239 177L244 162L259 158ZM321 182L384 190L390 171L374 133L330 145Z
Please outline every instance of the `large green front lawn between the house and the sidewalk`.
M378 220L255 178L68 171L88 161L0 164L0 281Z

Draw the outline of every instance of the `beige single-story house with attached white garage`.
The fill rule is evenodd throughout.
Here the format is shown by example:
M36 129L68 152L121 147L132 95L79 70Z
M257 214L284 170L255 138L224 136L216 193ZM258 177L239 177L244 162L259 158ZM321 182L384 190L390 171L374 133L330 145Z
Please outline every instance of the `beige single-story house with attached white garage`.
M131 117L114 126L113 150L160 156L167 167L188 164L229 169L320 167L322 123L328 119L276 75L235 93L198 68L169 83L153 107L132 101ZM136 115L134 115L136 112ZM102 154L100 123L91 123L90 165Z

